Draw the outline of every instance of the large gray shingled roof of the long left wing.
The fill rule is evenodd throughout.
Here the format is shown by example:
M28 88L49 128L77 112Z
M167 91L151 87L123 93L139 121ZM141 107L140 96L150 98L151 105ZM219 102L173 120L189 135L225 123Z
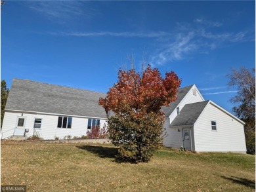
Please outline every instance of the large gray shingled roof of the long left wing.
M64 115L106 118L106 111L98 106L98 99L106 94L13 79L5 110L37 111Z

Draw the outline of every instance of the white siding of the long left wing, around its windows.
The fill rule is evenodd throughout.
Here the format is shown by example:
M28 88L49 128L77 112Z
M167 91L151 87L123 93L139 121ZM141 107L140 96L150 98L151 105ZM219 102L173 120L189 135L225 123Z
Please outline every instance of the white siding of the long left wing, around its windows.
M13 129L16 126L17 117L21 116L22 113L12 113L5 112L5 117L3 120L2 132L3 138L11 136L13 134ZM64 136L71 135L82 136L86 135L88 119L82 117L72 117L72 128L57 128L58 124L58 115L39 115L33 113L23 113L23 117L26 117L26 124L24 128L28 128L28 136L33 135L33 126L35 119L43 119L41 128L37 128L36 131L39 133L39 136L45 140L53 140L54 136L63 139ZM106 123L106 119L100 119L100 126L102 127ZM10 131L9 131L10 130Z

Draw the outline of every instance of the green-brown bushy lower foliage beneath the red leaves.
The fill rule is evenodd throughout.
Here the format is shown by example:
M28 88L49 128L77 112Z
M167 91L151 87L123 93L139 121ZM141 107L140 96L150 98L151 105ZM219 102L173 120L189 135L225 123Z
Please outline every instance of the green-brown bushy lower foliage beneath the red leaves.
M119 146L117 159L130 162L148 162L163 141L163 115L114 115L108 120L108 133L112 144Z

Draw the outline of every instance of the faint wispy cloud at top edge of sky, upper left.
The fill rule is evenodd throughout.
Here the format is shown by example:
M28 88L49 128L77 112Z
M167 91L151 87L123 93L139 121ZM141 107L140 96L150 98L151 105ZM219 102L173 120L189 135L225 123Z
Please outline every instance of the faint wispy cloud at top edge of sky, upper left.
M87 1L25 1L26 5L46 18L64 21L75 16L91 18L96 10L89 6Z

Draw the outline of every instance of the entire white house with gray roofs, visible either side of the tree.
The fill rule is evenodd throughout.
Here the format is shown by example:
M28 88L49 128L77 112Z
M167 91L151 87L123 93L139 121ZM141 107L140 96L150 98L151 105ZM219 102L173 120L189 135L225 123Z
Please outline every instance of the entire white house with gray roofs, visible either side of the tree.
M86 135L93 125L106 124L98 99L106 94L13 79L5 107L2 139L39 134L43 139ZM212 101L205 101L196 85L180 88L165 113L163 145L192 151L246 153L244 125Z

